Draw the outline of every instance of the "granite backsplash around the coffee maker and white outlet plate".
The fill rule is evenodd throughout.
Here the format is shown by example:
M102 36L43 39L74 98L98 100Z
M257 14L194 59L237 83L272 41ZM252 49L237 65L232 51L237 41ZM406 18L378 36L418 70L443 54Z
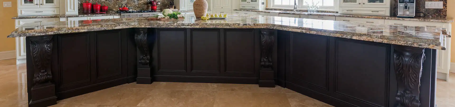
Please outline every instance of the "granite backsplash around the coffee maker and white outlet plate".
M425 9L425 1L442 1L443 9ZM398 15L398 0L394 0L393 12L394 16ZM447 17L447 0L415 0L415 12L423 12L426 14L425 18L446 18ZM419 16L420 13L416 14Z

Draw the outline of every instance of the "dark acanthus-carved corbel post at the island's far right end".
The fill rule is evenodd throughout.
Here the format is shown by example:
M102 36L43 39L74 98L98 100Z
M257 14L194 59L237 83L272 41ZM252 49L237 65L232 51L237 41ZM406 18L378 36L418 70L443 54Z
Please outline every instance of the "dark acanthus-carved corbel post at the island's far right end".
M396 107L420 107L420 78L425 49L394 46L394 71L398 82Z

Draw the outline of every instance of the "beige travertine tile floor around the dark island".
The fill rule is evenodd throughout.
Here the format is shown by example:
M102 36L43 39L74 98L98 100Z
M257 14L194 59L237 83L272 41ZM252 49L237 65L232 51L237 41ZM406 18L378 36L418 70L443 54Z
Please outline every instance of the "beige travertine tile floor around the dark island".
M27 107L25 64L0 61L0 107ZM438 107L455 107L454 82L438 80ZM154 82L124 84L58 101L52 107L333 107L283 87Z

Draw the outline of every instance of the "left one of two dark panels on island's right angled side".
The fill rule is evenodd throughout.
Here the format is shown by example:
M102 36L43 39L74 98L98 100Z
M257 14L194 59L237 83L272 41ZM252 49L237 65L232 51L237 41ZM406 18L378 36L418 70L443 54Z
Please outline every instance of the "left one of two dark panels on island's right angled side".
M287 32L287 31L286 31ZM281 32L280 32L281 33ZM329 36L288 32L286 81L317 92L329 91Z

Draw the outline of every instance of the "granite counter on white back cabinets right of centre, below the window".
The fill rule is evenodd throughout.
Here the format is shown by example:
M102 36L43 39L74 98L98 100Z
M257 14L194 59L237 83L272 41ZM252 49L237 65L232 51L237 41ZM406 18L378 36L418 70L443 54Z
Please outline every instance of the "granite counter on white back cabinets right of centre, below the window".
M443 23L452 23L454 22L453 18L424 18L424 17L415 17L415 18L399 18L399 17L390 17L390 16L373 16L373 15L345 15L339 13L308 13L301 11L283 11L283 10L244 10L244 9L235 9L235 11L252 11L252 12L266 12L266 13L283 13L283 14L294 14L294 15L324 15L324 16L336 16L336 17L356 17L356 18L370 18L370 19L389 19L389 20L410 20L410 21L428 21L428 22L443 22Z

